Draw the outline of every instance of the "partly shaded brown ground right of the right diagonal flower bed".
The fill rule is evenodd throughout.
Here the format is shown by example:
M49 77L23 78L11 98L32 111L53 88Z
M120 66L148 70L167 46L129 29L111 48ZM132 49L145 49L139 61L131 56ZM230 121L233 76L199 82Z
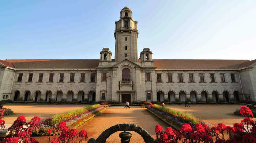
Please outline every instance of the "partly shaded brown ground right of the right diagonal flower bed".
M203 119L207 123L216 126L218 123L223 123L227 126L233 126L234 123L240 123L245 117L234 115L236 109L240 109L240 105L167 105L178 111L190 112L197 118ZM256 120L255 118L253 120Z

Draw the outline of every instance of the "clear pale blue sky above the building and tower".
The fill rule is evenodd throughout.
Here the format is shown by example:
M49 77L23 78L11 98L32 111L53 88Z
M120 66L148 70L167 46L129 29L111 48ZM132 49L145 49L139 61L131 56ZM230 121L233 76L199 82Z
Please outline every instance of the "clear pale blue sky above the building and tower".
M114 21L127 5L138 53L153 59L256 59L256 0L2 0L0 59L114 59Z

